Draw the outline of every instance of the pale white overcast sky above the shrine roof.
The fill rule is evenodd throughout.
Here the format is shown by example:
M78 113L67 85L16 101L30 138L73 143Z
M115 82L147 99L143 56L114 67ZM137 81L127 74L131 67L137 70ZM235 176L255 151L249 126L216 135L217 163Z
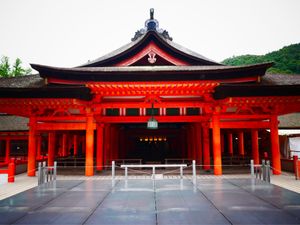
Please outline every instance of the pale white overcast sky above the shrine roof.
M130 42L152 7L174 42L216 61L300 42L300 0L0 0L0 55L78 66Z

